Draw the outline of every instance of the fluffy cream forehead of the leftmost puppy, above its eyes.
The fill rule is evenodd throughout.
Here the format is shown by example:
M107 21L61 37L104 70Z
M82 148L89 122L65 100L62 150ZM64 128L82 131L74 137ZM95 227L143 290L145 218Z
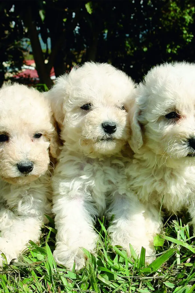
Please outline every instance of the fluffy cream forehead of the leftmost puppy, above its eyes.
M19 87L18 87L19 86ZM1 129L30 129L45 127L50 120L47 102L39 92L25 86L7 86L0 90L0 127Z

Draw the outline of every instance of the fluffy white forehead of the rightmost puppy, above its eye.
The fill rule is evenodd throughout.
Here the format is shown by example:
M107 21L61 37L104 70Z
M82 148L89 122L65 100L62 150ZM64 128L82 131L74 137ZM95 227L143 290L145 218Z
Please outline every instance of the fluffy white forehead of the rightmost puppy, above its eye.
M176 63L155 67L146 75L140 90L150 106L194 108L195 65Z

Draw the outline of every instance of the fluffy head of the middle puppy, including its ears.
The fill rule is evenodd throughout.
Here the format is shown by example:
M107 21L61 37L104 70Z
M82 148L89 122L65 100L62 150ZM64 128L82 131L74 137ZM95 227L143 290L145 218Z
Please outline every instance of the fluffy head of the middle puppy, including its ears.
M133 94L133 81L109 64L87 62L58 78L49 95L66 145L90 157L119 152L130 136Z

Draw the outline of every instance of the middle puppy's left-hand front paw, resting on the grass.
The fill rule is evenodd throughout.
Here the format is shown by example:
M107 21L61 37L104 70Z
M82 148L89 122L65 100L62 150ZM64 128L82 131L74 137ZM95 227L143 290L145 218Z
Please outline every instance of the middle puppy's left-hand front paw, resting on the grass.
M60 244L54 250L54 259L59 265L64 265L69 270L73 269L75 262L75 270L80 270L85 265L85 255L81 248L72 250L65 244Z

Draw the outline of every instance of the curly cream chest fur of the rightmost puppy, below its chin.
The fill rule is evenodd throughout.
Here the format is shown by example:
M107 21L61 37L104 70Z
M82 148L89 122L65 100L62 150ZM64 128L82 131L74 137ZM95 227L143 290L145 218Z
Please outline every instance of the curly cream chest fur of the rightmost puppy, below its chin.
M170 211L187 208L195 200L195 170L186 168L184 172L172 170L140 169L132 178L132 188L143 201L162 203Z

